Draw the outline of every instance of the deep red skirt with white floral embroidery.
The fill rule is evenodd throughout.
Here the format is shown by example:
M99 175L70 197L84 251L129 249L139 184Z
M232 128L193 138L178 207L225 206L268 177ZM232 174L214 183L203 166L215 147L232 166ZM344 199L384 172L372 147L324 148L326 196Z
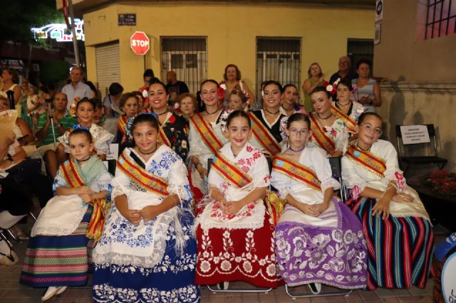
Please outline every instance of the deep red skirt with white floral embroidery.
M244 281L257 287L283 284L276 275L274 224L269 213L257 229L197 227L197 285Z

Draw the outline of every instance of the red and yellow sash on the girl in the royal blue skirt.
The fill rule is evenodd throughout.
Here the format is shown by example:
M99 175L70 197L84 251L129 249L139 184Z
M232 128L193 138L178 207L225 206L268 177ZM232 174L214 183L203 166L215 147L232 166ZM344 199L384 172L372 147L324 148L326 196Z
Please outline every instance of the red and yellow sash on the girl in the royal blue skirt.
M167 181L159 176L150 174L141 166L135 164L135 161L125 151L120 155L117 161L117 167L127 174L140 188L156 193L161 197L168 195Z

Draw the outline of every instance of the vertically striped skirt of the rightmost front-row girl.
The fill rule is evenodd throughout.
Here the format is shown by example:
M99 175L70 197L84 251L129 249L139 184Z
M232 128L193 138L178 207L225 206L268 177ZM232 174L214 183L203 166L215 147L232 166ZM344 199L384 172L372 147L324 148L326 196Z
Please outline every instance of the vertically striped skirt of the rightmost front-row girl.
M368 248L368 289L424 288L430 275L434 235L420 217L372 216L376 200L361 198L353 211L363 224Z

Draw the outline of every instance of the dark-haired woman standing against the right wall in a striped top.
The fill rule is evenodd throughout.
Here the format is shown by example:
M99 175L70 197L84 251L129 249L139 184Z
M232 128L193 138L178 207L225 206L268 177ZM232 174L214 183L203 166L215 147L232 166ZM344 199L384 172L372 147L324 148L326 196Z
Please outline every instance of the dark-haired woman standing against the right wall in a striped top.
M371 78L371 68L370 60L359 60L356 63L358 78L351 80L355 89L353 97L365 107L366 112L376 112L375 107L382 105L380 86L378 86L377 81Z

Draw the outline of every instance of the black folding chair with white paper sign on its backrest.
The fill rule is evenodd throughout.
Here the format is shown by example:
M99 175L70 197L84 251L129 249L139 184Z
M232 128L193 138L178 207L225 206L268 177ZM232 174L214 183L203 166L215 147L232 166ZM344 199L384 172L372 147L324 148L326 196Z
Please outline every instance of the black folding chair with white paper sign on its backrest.
M435 140L434 124L425 124L425 126L427 127L427 133L429 134L429 140L431 140L431 138L432 138L432 141L434 142L434 144L431 144L431 142L409 143L409 144L413 144L415 146L419 144L423 147L430 145L431 149L432 149L432 147L434 149L434 153L432 156L405 156L405 145L409 145L409 144L403 143L402 132L400 131L401 126L403 126L403 125L396 125L395 131L396 131L396 140L398 142L399 161L400 161L400 164L405 164L405 167L403 167L404 174L408 171L408 169L410 168L411 165L437 164L439 169L442 169L445 166L445 164L447 164L447 161L448 161L447 159L440 158L437 155L437 142ZM402 142L402 144L400 142ZM401 146L402 146L402 148L401 148ZM401 154L401 151L403 151L402 154Z

